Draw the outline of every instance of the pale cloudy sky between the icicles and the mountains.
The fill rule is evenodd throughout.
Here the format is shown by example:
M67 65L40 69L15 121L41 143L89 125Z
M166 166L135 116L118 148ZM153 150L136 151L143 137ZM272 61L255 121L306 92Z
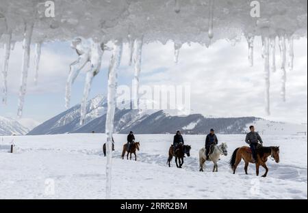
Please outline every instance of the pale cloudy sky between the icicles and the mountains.
M248 64L246 40L231 46L225 40L209 48L199 44L181 48L179 63L173 61L173 44L145 44L142 54L142 85L192 86L192 113L215 117L256 116L282 122L307 123L307 38L294 42L294 71L287 72L287 102L281 101L281 71L277 48L277 72L271 73L271 111L268 117L264 106L264 65L261 58L261 40L255 40L255 66ZM119 84L130 85L133 68L128 64L128 48L125 46L120 67ZM61 113L64 108L65 82L69 64L77 59L67 42L44 44L40 61L38 85L34 85L34 54L31 54L28 90L25 98L22 124L30 128L35 124ZM3 58L3 50L0 51ZM10 59L8 78L8 105L0 105L0 116L16 118L17 92L21 74L21 43L16 44ZM105 94L107 67L110 53L103 57L103 67L94 79L90 98ZM2 63L2 61L0 62ZM0 65L2 67L2 64ZM2 79L0 79L2 81ZM84 73L73 86L72 102L81 100Z

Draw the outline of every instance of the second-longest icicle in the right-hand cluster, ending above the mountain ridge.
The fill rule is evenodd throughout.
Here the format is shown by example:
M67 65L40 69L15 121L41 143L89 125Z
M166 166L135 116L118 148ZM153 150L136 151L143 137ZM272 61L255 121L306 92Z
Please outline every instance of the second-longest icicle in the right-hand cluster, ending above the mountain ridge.
M285 83L287 81L287 72L285 70L286 63L286 47L285 47L285 34L281 33L279 35L279 49L280 49L280 59L281 59L281 98L285 102Z

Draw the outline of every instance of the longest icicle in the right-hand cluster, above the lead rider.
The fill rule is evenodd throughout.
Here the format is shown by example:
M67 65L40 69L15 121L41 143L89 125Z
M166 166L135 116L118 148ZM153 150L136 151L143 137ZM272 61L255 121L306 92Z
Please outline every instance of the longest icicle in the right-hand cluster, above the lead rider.
M267 35L262 35L262 57L266 83L266 113L270 115L270 39Z

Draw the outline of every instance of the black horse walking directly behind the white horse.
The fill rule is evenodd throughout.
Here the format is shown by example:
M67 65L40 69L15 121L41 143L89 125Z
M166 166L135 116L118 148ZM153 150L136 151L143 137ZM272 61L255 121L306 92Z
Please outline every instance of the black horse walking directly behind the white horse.
M175 156L175 163L177 164L177 168L182 168L182 165L184 163L184 156L185 154L189 157L190 156L190 149L192 147L190 145L183 145L183 143L180 143L177 147L177 150L173 152L173 146L169 148L169 158L168 158L168 165L170 167L170 161L172 160L173 156ZM177 159L179 159L179 164L177 163Z

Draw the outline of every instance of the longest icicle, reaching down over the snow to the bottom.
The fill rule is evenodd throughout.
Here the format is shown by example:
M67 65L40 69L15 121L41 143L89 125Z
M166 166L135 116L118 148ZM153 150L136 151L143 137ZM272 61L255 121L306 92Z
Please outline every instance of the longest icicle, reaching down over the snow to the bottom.
M112 190L112 134L114 131L114 113L116 111L116 87L117 74L123 51L123 42L116 40L114 50L110 59L110 68L108 72L108 89L107 89L107 115L105 132L107 136L107 163L106 163L106 199L111 198Z

